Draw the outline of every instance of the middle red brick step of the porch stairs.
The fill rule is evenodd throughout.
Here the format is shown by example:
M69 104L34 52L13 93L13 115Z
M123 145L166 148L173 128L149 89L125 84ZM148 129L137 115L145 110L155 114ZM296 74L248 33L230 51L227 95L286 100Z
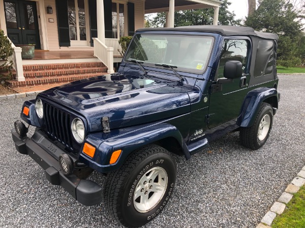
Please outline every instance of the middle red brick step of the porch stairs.
M52 69L52 70L42 70L42 71L24 71L24 78L35 79L35 78L49 78L64 75L78 75L78 74L88 74L88 73L98 73L106 72L107 67L95 67L95 68L73 68L73 69ZM15 79L16 73L13 74Z

